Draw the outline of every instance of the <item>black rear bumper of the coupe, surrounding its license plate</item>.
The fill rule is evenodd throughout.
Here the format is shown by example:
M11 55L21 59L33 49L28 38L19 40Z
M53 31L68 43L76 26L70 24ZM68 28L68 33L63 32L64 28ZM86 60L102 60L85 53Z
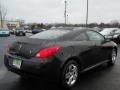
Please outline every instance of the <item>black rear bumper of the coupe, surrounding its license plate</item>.
M12 71L19 75L29 76L29 77L45 77L45 78L55 78L59 79L60 75L60 63L57 60L40 60L38 58L32 59L21 59L22 64L20 68L13 65L13 60L15 56L6 54L4 56L5 66L9 71Z

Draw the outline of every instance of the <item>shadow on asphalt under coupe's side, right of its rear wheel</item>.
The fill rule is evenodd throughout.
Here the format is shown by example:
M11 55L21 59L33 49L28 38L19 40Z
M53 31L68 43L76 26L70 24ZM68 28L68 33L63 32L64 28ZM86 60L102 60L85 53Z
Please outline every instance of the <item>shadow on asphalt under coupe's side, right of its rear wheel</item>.
M114 71L114 69L114 66L103 64L81 74L79 81L73 90L97 90L98 87L98 90L103 90L104 87L101 87L101 83L104 83L104 79L109 79L109 76Z

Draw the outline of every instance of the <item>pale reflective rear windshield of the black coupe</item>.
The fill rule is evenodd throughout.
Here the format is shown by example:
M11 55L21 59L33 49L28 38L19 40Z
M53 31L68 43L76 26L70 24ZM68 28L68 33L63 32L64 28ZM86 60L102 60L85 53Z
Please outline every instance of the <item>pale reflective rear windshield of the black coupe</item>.
M36 38L36 39L57 39L60 38L62 36L64 36L65 34L69 33L70 31L68 30L48 30L48 31L43 31L40 32L38 34L35 34L33 36L31 36L30 38Z

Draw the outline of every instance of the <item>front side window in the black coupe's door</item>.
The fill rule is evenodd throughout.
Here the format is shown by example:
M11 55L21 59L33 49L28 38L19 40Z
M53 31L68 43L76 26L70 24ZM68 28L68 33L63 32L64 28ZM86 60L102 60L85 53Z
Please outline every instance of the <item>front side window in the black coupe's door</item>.
M87 31L86 33L90 41L104 41L104 37L95 31Z

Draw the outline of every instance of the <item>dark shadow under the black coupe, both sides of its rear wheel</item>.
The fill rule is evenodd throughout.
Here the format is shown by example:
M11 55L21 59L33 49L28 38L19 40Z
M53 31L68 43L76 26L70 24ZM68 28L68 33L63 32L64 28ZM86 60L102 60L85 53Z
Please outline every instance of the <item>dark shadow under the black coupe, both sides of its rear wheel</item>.
M113 67L99 66L93 70L83 73L77 85L72 90L91 90L91 83L104 78L108 72L112 72ZM87 86L87 87L86 87ZM42 79L23 79L18 77L16 84L10 90L66 90L57 81ZM67 89L68 90L68 89Z

